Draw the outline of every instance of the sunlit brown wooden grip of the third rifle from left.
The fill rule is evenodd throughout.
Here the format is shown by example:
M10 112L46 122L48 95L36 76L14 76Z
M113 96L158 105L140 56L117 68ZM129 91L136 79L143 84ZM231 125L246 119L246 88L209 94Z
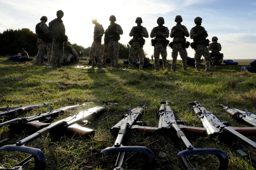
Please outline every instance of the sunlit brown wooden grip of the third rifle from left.
M76 134L81 137L88 137L89 135L92 136L95 134L95 131L93 129L85 128L85 127L79 126L78 124L73 124L68 126L66 129L66 132Z

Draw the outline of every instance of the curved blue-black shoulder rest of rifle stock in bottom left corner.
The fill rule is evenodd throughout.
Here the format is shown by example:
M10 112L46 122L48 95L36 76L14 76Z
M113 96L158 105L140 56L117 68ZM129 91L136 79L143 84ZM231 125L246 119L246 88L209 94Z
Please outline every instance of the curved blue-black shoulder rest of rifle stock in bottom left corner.
M27 147L24 145L17 146L16 144L14 145L5 145L0 148L1 150L6 150L6 151L19 151L19 152L26 152L29 153L33 156L35 165L33 170L44 170L46 167L46 159L45 159L45 154L37 148L32 148L32 147Z

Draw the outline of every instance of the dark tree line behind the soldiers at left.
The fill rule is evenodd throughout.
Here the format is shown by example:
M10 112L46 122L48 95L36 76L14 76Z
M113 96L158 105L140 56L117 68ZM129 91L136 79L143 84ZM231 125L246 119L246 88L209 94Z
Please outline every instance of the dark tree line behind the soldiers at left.
M28 52L29 56L37 55L37 34L28 28L22 29L6 29L2 33L0 32L0 56L15 56L20 53L21 48L24 48ZM93 40L92 40L93 41ZM68 41L68 45L74 47L79 52L83 51L85 56L89 56L90 46L84 48L81 45L71 44ZM101 53L103 54L104 44L101 45ZM124 45L119 43L119 57L129 58L130 45Z

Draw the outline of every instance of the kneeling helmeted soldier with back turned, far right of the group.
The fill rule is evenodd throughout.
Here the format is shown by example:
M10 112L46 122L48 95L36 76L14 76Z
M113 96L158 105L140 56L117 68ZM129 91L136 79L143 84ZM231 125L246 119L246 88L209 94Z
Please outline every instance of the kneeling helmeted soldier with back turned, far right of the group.
M220 53L221 44L217 43L217 40L217 37L212 37L212 43L209 45L209 51L211 51L210 60L212 65L219 65L223 61L223 53Z

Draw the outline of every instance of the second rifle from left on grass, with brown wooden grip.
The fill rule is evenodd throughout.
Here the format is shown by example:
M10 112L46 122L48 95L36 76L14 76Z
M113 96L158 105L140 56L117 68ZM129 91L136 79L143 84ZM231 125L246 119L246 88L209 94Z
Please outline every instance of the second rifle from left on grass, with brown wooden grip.
M6 122L2 122L0 123L0 128L2 126L9 125L8 128L15 133L22 132L23 130L25 130L26 126L39 130L48 126L49 122L52 122L55 118L57 118L60 114L64 113L65 111L71 111L80 107L82 107L82 105L66 106L54 110L52 109L52 105L50 105L50 112L38 113L32 116L16 118Z

